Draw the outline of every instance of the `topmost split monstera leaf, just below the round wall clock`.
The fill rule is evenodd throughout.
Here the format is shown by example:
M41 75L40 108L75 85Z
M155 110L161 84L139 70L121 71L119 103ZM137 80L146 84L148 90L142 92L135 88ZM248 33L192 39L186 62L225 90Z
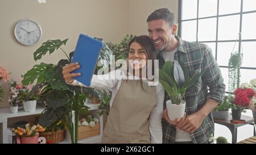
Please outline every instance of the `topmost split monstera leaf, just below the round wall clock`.
M47 40L42 44L41 47L36 49L34 52L34 60L40 60L42 56L46 55L46 53L49 51L49 54L51 55L52 52L55 51L55 49L58 49L61 47L61 45L65 45L67 43L68 39L65 39L63 41L61 40Z

